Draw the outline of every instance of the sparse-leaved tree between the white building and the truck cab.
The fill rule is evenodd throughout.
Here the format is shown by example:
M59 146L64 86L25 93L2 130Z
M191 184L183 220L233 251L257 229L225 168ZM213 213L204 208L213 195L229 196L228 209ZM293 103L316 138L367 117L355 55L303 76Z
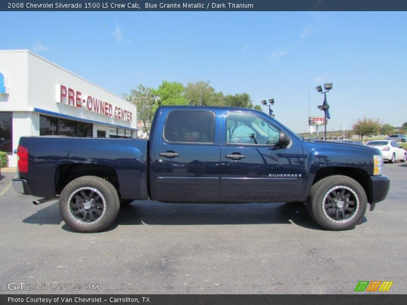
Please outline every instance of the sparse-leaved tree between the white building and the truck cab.
M139 84L131 90L132 102L137 106L137 120L142 123L143 132L150 135L151 122L157 107L154 105L152 89Z

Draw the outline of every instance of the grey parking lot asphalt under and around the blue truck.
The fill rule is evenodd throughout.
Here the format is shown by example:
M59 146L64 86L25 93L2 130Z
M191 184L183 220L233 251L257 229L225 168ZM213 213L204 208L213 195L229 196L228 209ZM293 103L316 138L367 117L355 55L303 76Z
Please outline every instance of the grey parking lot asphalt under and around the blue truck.
M393 281L386 293L405 294L406 173L385 164L387 199L349 231L319 228L305 204L134 201L94 234L71 231L57 201L33 205L2 173L0 293L352 294L359 281ZM16 282L65 286L9 290Z

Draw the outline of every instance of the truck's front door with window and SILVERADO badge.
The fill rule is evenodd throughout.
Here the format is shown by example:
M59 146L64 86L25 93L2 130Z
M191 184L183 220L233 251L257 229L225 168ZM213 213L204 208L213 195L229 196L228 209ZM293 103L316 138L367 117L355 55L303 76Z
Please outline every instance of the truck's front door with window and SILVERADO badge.
M281 147L280 129L260 115L225 111L222 116L221 201L297 200L305 175L299 140Z

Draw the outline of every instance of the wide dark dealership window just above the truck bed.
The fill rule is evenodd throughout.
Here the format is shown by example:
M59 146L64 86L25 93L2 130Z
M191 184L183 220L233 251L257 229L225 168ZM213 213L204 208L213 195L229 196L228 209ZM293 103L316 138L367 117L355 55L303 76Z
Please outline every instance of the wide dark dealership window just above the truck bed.
M92 124L40 115L40 136L92 137Z

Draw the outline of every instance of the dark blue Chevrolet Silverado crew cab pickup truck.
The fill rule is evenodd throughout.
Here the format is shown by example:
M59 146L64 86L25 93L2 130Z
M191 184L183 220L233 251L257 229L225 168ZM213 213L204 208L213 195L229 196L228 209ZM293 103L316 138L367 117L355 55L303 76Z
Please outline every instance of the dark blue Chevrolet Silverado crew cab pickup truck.
M385 199L379 150L304 140L263 112L163 106L150 139L21 137L14 189L59 196L65 223L106 229L133 200L307 202L329 230L355 227Z

